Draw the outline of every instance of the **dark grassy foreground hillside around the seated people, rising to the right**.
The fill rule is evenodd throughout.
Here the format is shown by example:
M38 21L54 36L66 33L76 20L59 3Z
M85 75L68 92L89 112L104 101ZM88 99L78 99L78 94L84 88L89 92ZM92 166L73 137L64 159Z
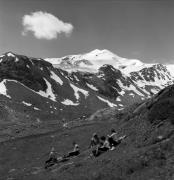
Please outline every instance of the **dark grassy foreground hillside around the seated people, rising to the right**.
M1 179L173 180L173 108L174 85L124 110L100 110L80 126L1 143ZM114 151L89 157L91 135L106 135L111 128L127 138ZM45 171L43 163L50 148L54 146L62 155L71 149L74 140L81 154Z

